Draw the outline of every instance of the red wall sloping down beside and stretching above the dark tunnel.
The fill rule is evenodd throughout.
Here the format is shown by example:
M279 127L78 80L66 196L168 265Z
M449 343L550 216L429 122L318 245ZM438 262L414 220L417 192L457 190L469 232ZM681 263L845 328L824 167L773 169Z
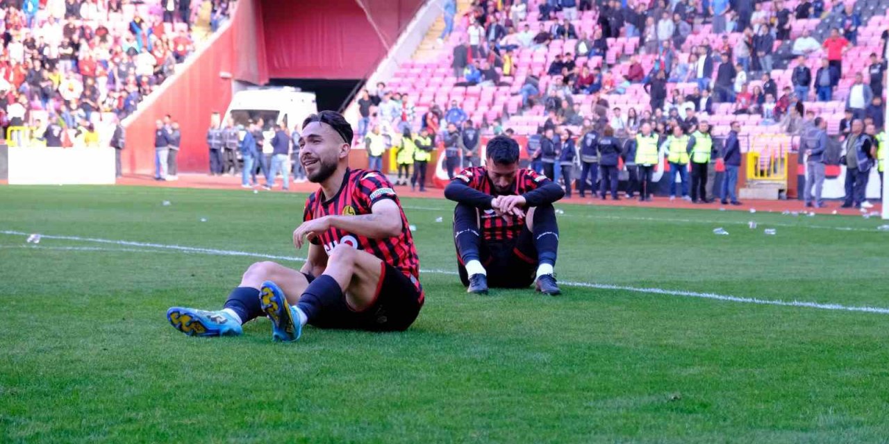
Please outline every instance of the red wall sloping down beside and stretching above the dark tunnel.
M254 84L268 83L269 78L363 78L423 2L237 2L231 25L125 121L124 172L153 174L155 122L167 114L180 123L180 171L208 171L210 115L225 112L231 101L232 80L220 73Z

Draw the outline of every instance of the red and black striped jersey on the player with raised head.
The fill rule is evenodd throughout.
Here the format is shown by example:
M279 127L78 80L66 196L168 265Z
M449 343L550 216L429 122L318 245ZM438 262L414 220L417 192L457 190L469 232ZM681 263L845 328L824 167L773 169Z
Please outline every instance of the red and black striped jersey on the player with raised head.
M345 243L358 250L364 250L383 262L395 267L412 278L417 289L420 289L420 258L413 245L411 229L408 226L401 202L388 178L378 171L346 170L340 191L332 198L324 200L324 192L318 189L306 199L306 209L302 220L322 218L324 216L357 216L371 214L374 203L384 199L395 201L401 213L401 234L386 239L369 239L357 234L347 233L339 228L331 227L312 240L316 245L324 246L328 253L340 243Z

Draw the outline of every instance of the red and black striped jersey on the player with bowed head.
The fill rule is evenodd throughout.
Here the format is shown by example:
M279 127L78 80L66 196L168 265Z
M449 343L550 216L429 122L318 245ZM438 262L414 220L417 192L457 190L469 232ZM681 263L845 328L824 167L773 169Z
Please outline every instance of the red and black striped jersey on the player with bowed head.
M470 188L477 189L485 194L496 195L494 193L491 178L488 178L488 171L485 167L474 167L462 170L460 174L453 177L454 181L461 181ZM538 174L534 170L520 169L516 172L516 181L509 195L525 194L535 190L540 186L551 183L546 176ZM482 238L485 241L504 241L515 239L518 237L522 227L525 226L525 218L508 215L506 218L494 214L494 210L482 210Z

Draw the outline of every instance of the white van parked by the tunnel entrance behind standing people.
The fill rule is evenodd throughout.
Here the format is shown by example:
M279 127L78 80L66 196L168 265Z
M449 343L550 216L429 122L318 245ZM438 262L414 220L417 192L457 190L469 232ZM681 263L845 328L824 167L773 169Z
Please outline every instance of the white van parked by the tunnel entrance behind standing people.
M275 125L286 123L290 132L294 124L301 126L306 117L317 112L314 92L284 86L237 91L225 116L231 117L235 126L240 127L240 139L244 138L248 120L258 122L262 119L262 133L265 136L262 152L268 154L271 153L269 141L275 136Z

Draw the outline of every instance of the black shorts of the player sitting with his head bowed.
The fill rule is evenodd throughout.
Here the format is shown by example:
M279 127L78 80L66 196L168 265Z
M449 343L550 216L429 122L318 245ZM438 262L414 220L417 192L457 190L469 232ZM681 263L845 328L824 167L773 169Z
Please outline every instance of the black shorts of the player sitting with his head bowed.
M478 257L488 276L488 287L524 289L534 283L537 274L537 248L534 235L527 227L509 241L485 241L478 246ZM469 287L469 274L457 258L457 271L464 287Z

